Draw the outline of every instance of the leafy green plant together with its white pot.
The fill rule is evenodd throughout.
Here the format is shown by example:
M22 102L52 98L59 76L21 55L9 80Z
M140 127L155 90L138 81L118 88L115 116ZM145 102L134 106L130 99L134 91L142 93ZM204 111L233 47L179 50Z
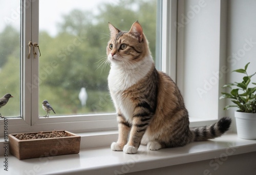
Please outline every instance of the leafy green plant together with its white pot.
M242 82L225 84L223 88L230 88L230 93L222 93L220 99L229 98L234 105L227 105L224 110L230 107L238 107L239 110L234 113L237 122L238 137L243 139L256 139L256 86L250 87L251 77L256 74L248 75L244 69L234 70L232 72L245 74Z

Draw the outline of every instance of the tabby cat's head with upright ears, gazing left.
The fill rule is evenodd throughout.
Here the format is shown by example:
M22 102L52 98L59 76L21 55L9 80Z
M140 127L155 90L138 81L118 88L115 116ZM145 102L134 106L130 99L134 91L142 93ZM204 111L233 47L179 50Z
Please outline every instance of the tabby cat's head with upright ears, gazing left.
M145 57L150 56L148 42L141 25L136 21L129 32L121 31L109 24L111 38L106 54L111 64L121 64L132 68Z

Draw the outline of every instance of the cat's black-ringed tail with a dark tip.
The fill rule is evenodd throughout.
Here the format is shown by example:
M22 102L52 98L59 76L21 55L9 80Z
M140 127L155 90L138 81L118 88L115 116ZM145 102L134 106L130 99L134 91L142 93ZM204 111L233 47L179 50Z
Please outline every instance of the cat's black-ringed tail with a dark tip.
M231 119L229 117L221 118L217 123L209 126L190 128L194 135L193 141L205 141L214 139L223 135L230 127Z

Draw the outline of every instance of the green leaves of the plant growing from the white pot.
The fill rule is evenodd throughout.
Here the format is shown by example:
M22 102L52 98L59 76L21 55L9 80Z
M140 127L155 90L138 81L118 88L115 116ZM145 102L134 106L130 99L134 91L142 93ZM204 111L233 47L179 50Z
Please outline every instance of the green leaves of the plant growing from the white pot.
M230 98L231 101L235 105L227 105L224 110L227 110L229 107L238 107L239 112L244 113L256 113L256 86L253 88L249 88L249 84L251 82L251 77L256 74L256 72L250 76L247 74L247 67L249 63L245 65L244 69L238 69L234 70L232 72L238 72L242 74L246 74L246 76L243 77L242 82L234 82L229 83L223 86L223 88L230 88L230 93L222 93L223 95L220 97L220 99L223 98ZM256 83L252 84L256 85ZM236 89L232 89L232 86L236 86ZM242 93L240 93L242 92Z

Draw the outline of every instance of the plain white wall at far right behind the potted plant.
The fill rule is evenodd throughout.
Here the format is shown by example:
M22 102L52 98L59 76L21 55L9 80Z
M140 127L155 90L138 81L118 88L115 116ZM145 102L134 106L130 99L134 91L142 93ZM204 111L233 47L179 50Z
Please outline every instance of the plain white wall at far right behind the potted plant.
M226 74L226 83L241 82L243 75L231 73L232 70L244 68L250 62L247 69L249 74L256 72L256 1L229 0L227 12L226 64L230 71ZM256 82L256 76L252 80ZM226 103L232 104L229 100ZM226 111L226 116L233 119L233 130L236 130L236 110L232 108Z

